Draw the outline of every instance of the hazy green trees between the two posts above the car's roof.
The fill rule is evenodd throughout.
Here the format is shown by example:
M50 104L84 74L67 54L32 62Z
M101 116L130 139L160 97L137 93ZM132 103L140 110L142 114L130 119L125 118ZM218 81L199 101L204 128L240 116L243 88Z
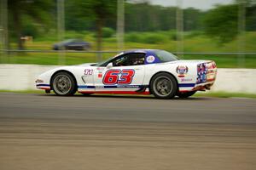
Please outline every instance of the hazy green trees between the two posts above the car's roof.
M168 31L175 28L175 7L147 2L125 4L125 31Z

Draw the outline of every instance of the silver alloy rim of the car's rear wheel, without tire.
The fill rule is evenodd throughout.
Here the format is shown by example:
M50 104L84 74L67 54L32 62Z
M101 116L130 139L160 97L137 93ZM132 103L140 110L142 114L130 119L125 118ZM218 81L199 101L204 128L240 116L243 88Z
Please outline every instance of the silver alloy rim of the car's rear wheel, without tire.
M172 81L169 77L157 77L153 84L154 92L161 97L172 93Z

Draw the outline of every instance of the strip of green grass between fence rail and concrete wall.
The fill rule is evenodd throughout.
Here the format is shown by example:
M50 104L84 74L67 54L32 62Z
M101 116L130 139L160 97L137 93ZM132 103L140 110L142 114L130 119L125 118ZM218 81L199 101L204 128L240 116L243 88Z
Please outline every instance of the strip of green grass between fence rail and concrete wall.
M108 59L115 54L102 54L102 59ZM82 63L97 62L96 54L66 53L64 54L66 65L79 65ZM203 55L203 54L185 54L182 59L210 59L217 63L218 68L236 68L238 67L237 56L234 55ZM36 65L58 65L58 53L20 53L9 54L7 61L9 64L36 64ZM246 56L244 67L256 68L256 56Z

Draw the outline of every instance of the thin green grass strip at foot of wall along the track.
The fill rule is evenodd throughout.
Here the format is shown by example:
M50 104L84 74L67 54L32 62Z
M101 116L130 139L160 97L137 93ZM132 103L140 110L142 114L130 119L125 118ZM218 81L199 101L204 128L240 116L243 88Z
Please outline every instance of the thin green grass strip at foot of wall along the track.
M0 90L0 93L14 93L14 94L45 94L44 90ZM51 92L51 94L54 94ZM80 95L79 93L77 93ZM101 94L102 95L102 94ZM125 94L104 94L104 95L117 95L117 96L137 96ZM142 95L138 95L142 96ZM148 96L148 95L146 95ZM243 94L243 93L227 93L227 92L202 92L196 93L193 97L215 97L215 98L252 98L256 99L256 94Z

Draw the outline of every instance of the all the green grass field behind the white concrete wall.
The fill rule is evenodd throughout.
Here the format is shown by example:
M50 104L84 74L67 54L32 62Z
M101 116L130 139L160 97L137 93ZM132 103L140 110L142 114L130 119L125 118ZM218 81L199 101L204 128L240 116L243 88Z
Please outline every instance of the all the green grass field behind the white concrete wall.
M91 42L92 49L96 50L96 38L92 32L73 32L67 31L66 38L83 38ZM131 48L159 48L170 52L177 51L178 42L175 40L173 31L156 32L131 32L125 34L125 49ZM26 49L49 50L56 42L55 34L39 37L33 42L26 42ZM161 41L159 41L161 39ZM256 52L256 31L247 32L244 52ZM11 44L15 48L15 44ZM219 44L214 39L205 36L201 32L185 32L183 49L184 52L237 52L237 38L232 42ZM103 39L102 50L117 51L116 37ZM102 59L108 59L115 54L102 54ZM256 68L256 55L247 55L244 64L238 63L236 55L208 55L208 54L185 54L180 56L182 59L212 59L216 61L218 67L236 68L238 66L246 68ZM66 53L65 64L77 65L86 62L96 62L96 54ZM10 53L8 57L0 56L0 63L9 64L38 64L38 65L57 65L59 54L57 53Z

